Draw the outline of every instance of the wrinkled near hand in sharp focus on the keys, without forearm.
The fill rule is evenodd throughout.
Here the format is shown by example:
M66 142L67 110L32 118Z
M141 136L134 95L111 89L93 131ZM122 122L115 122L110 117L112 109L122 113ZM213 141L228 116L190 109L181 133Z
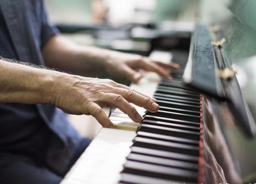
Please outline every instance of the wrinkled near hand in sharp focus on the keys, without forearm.
M63 77L58 78L56 84L57 91L52 103L69 114L92 115L104 127L113 128L108 116L102 110L105 105L118 107L137 123L142 121L142 117L129 102L151 112L159 109L155 99L109 79L64 74Z

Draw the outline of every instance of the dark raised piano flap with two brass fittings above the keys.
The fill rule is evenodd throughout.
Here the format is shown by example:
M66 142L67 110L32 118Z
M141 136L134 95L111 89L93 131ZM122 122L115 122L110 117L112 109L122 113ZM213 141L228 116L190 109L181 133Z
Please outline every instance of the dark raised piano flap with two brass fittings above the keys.
M183 81L230 107L235 123L248 137L256 133L255 122L242 97L234 67L225 54L225 38L213 41L206 26L197 25L191 37Z

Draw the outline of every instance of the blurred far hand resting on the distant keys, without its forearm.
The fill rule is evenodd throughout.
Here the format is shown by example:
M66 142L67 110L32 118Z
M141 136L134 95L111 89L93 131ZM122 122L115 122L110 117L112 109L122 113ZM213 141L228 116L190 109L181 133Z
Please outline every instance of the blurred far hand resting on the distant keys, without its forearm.
M142 74L138 70L155 72L161 77L171 78L170 70L179 69L176 63L165 64L137 54L112 52L106 61L105 70L116 77L126 77L138 83Z

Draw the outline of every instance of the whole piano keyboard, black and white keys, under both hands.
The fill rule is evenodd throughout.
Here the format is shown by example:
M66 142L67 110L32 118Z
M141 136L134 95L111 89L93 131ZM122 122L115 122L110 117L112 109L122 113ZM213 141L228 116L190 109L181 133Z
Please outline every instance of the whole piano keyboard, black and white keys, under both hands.
M157 53L170 61L168 52ZM113 109L112 123L117 128L126 127L136 132L103 128L61 184L189 184L201 181L200 95L181 81L187 52L172 51L172 56L180 65L179 71L172 72L173 80L148 79L131 86L156 98L159 111L145 112L136 106L144 116L143 122L137 124L120 110Z

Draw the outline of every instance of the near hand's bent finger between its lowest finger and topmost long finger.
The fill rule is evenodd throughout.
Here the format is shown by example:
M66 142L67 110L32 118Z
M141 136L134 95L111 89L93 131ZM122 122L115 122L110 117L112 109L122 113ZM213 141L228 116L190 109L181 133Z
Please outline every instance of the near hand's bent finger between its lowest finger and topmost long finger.
M142 117L136 111L136 109L121 95L116 95L114 93L105 93L104 101L114 107L117 107L125 114L127 114L134 122L140 123Z

